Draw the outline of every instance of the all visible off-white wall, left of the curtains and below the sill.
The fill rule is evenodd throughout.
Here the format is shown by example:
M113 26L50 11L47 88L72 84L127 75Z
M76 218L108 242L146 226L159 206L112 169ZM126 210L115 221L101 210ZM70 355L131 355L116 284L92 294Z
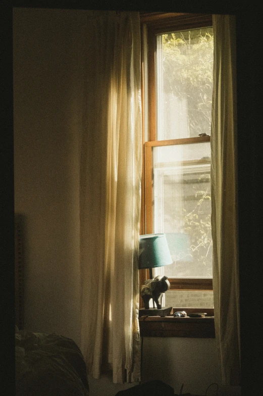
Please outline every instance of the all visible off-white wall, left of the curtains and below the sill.
M88 14L14 10L15 212L25 218L25 328L78 344L83 83L75 70L83 67L77 54L82 42L88 45ZM184 392L204 394L220 381L215 340L144 338L142 380L151 379L177 393L184 383ZM89 377L89 384L90 396L114 396L132 386L113 384L109 374Z

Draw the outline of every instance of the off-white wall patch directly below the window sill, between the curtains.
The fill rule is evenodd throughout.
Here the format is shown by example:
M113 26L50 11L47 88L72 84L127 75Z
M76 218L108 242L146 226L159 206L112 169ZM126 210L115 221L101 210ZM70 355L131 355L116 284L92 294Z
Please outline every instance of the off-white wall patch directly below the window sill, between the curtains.
M175 393L205 394L207 386L220 383L214 338L145 337L143 381L160 379ZM215 390L215 387L213 388ZM214 394L214 393L208 393Z

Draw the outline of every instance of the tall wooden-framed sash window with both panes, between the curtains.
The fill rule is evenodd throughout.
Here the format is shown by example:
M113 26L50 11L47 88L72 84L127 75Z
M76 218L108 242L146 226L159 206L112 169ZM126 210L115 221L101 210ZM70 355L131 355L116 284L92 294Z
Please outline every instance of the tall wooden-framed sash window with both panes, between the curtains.
M171 284L165 305L213 308L212 16L164 14L144 21L141 233L167 236L173 264L155 270Z

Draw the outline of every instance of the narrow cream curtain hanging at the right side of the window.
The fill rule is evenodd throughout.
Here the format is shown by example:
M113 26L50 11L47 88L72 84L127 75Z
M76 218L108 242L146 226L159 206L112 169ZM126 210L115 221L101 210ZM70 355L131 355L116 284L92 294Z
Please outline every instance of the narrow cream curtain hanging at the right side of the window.
M222 382L240 385L235 17L214 15L212 235L215 328Z

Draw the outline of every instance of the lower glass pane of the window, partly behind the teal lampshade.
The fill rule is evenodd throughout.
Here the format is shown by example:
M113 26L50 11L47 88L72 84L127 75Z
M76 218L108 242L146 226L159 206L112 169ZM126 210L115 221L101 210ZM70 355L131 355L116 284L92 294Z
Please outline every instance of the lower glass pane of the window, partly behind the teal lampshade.
M165 275L212 278L210 143L153 147L154 233L165 233Z

